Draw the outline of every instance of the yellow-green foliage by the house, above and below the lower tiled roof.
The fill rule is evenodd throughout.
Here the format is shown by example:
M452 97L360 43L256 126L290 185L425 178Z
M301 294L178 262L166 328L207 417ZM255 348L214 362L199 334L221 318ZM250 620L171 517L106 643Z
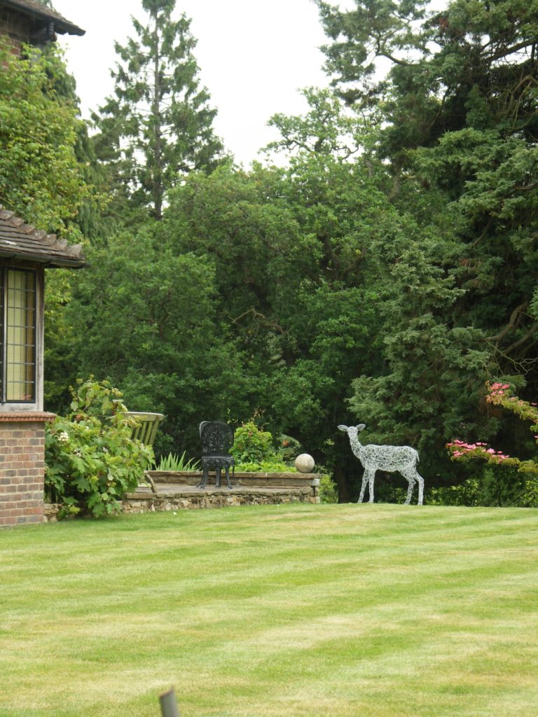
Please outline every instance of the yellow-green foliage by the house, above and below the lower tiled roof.
M70 242L93 239L104 231L102 172L78 118L75 81L54 45L26 52L16 57L0 37L0 204ZM63 315L71 275L47 272L45 395L55 409L69 402L67 387L80 375L70 373L62 348L75 331Z

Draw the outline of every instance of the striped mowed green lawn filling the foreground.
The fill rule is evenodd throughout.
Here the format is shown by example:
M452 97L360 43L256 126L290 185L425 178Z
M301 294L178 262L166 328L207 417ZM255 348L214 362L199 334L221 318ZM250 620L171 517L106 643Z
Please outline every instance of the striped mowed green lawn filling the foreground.
M538 716L538 511L282 505L0 531L0 716Z

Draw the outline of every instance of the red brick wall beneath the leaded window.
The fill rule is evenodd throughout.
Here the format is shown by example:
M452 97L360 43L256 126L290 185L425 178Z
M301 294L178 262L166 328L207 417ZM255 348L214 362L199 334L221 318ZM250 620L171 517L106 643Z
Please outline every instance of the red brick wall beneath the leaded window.
M44 425L53 418L0 415L0 526L44 520Z

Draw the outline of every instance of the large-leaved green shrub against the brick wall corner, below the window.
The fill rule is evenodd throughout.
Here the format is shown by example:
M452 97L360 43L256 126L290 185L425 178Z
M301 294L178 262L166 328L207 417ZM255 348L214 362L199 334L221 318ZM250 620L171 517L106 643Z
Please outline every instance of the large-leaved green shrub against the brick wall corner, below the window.
M70 414L45 432L45 495L63 516L113 513L143 480L153 451L131 440L135 419L108 381L79 381L71 393Z

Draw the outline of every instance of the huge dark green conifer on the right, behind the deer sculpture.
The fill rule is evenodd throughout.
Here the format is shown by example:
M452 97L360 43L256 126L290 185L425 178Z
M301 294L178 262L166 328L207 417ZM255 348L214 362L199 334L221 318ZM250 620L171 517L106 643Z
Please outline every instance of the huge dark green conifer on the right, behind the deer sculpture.
M502 432L509 449L519 443L483 402L486 379L511 376L531 400L538 389L537 7L318 5L336 90L354 110L381 113L387 199L422 229L404 247L385 242L385 366L355 381L351 406L373 422L373 442L422 448L425 473L441 480L442 437L462 426L475 440ZM382 81L378 58L390 61Z

